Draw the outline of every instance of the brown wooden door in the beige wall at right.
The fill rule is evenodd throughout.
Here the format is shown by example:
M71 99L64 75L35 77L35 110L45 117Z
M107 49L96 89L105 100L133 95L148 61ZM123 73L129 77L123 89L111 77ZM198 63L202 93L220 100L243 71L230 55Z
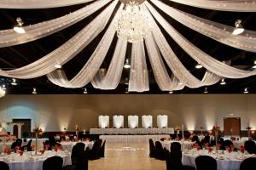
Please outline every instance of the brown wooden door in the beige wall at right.
M224 135L240 136L241 118L240 117L224 117Z

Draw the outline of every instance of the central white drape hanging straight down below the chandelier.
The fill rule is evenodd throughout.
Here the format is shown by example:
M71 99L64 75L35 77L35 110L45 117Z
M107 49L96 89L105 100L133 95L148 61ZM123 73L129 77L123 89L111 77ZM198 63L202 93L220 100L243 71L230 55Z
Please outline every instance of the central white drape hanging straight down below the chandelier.
M129 92L144 92L149 90L148 69L143 42L132 43L128 90Z

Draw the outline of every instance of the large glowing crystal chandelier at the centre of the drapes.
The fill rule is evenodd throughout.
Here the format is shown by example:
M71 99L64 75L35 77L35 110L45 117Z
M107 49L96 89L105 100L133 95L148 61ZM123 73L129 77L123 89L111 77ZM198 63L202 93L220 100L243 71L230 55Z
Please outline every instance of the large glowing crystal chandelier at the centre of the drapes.
M135 1L125 6L117 22L118 37L128 42L143 41L152 27L148 15L139 8Z

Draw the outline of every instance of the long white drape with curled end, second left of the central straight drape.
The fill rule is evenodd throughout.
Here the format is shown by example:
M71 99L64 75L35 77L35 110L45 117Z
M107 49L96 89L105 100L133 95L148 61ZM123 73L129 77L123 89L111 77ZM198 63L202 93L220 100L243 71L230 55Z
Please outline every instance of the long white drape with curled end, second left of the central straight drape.
M114 4L116 4L115 1ZM113 6L114 7L114 6ZM94 53L90 56L90 59L84 65L81 71L73 77L71 81L67 80L67 77L64 74L64 71L53 71L47 75L50 82L55 83L58 86L64 88L82 88L86 85L90 80L95 77L96 72L99 70L102 65L103 59L105 59L106 54L108 53L108 49L113 41L113 37L115 34L114 24L115 20L117 20L118 14L120 13L123 5L120 6L117 14L114 16L110 26L108 26L108 30L105 32L102 37L101 42L99 42L98 46ZM113 8L112 10L113 11Z

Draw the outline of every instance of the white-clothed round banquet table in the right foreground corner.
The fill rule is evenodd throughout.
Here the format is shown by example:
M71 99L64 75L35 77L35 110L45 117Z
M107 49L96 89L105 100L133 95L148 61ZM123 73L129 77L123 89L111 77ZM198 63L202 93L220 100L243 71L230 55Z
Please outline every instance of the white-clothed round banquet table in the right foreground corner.
M241 154L240 152L227 153L227 151L224 151L224 154L221 152L221 150L218 150L219 154L216 154L215 150L212 150L212 153L209 154L208 150L184 150L182 162L183 165L195 167L195 158L197 156L212 156L217 161L218 170L239 170L241 161L253 156Z

